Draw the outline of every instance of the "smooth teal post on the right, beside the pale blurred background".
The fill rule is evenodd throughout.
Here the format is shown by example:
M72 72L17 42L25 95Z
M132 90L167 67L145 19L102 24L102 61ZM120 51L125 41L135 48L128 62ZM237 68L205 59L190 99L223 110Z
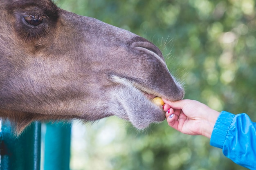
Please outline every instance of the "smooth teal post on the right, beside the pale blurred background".
M71 124L46 125L44 170L70 170Z

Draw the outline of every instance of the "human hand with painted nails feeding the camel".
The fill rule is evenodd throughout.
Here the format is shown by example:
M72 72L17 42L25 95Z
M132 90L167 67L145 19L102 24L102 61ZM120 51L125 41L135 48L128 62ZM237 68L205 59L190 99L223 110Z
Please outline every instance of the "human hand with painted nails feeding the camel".
M220 112L196 100L184 99L170 102L163 99L168 125L188 135L211 138L214 124Z

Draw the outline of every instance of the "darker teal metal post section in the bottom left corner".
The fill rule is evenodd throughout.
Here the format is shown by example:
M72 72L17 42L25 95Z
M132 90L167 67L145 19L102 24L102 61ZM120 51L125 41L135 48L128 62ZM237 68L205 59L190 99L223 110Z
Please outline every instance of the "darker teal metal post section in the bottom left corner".
M13 137L9 121L2 124L0 170L40 170L41 124L36 121Z

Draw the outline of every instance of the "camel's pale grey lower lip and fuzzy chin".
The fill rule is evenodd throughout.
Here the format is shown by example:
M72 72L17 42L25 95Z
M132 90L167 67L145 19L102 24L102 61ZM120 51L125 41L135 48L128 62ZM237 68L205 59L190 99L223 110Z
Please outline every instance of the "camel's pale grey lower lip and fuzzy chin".
M110 107L113 108L114 115L131 122L137 129L164 121L164 110L152 101L154 97L159 96L157 92L145 88L136 79L114 74L110 78L111 82L117 84L110 93L113 102Z

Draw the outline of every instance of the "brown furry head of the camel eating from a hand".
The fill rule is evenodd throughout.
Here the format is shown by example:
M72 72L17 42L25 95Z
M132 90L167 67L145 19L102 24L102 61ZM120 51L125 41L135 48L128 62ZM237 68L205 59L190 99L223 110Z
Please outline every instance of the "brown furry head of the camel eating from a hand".
M184 96L159 49L138 35L50 0L0 0L0 11L0 117L18 134L34 120L111 115L145 128L164 120L154 96Z

